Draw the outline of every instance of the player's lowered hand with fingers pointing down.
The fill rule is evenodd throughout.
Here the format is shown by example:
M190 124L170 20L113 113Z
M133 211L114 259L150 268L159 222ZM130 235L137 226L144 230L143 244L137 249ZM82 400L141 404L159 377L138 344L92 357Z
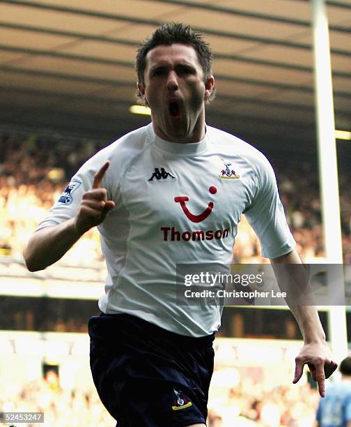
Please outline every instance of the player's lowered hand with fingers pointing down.
M331 360L331 354L327 343L321 341L320 343L304 344L302 350L295 358L295 377L292 381L296 384L302 377L304 365L309 366L309 370L318 384L318 391L321 397L325 396L325 378L336 370L338 364Z

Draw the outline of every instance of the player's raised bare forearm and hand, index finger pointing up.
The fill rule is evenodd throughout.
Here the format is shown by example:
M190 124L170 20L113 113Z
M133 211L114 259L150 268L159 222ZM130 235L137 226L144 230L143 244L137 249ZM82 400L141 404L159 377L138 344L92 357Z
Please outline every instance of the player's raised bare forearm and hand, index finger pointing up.
M36 231L24 250L24 260L29 271L45 269L58 261L91 227L102 223L107 213L114 208L107 200L107 190L101 188L109 162L94 175L91 190L84 193L74 218L59 225L47 226Z

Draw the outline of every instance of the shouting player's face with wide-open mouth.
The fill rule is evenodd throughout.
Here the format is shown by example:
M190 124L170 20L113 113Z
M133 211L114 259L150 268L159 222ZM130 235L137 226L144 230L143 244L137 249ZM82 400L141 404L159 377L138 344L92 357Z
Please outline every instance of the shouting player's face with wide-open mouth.
M203 69L192 46L159 45L146 55L144 85L138 84L150 106L155 133L165 140L196 142L205 132L204 100L214 79L204 81Z

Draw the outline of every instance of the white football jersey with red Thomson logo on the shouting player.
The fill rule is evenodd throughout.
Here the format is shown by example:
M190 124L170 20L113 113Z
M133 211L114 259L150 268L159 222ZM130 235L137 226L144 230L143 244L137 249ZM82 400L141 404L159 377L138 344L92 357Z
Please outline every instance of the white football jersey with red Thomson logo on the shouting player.
M121 137L79 169L38 230L75 216L106 160L102 186L116 207L98 226L108 271L103 313L129 313L187 336L212 334L221 308L177 304L176 265L229 264L243 212L264 257L295 246L268 160L210 126L189 144L160 139L152 123Z

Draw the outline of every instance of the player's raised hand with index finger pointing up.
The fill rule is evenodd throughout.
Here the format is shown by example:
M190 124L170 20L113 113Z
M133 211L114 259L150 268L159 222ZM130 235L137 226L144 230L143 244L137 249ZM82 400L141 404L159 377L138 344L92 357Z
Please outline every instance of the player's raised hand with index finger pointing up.
M112 200L107 200L106 188L101 188L102 179L108 168L109 161L95 173L91 190L82 197L79 211L75 216L75 229L79 234L84 234L91 227L101 224L109 211L115 207Z

